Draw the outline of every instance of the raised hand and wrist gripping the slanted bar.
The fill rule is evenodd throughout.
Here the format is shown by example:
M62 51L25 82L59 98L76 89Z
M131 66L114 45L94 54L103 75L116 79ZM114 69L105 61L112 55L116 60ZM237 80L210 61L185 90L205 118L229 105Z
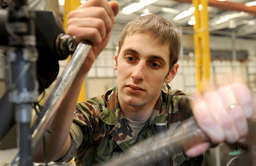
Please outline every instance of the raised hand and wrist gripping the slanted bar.
M106 47L119 4L107 0L89 0L68 14L67 34L76 37L76 43L92 44L90 53L80 71L88 72L94 60Z

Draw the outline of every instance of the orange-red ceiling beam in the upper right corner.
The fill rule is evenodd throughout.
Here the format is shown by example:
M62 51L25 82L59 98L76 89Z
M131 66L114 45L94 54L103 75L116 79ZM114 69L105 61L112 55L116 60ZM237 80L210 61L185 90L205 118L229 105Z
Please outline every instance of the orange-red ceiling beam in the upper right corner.
M192 0L173 0L179 3L192 3ZM256 15L256 7L253 6L246 6L243 3L231 3L231 2L221 2L217 0L208 0L208 5L218 8L218 9L225 9L225 10L233 10L233 11L242 11L249 14Z

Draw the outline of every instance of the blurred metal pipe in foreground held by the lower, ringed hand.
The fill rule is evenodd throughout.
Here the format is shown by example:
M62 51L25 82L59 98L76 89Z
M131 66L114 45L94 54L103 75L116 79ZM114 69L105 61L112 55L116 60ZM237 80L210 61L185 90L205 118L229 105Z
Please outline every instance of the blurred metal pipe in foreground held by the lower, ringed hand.
M198 143L209 141L193 117L180 123L177 129L149 138L131 147L123 156L113 158L104 166L149 165Z

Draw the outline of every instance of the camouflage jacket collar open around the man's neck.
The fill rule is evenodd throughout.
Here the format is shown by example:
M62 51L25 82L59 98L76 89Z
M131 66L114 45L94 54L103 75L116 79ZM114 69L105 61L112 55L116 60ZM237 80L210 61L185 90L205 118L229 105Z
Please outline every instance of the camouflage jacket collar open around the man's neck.
M168 88L167 90L169 90ZM163 89L159 99L157 100L152 116L150 117L150 124L166 123L166 89ZM136 141L132 138L132 131L125 121L124 115L120 110L117 88L108 90L104 97L106 107L103 109L100 118L102 122L113 125L110 131L113 140L125 152L129 147L133 146Z

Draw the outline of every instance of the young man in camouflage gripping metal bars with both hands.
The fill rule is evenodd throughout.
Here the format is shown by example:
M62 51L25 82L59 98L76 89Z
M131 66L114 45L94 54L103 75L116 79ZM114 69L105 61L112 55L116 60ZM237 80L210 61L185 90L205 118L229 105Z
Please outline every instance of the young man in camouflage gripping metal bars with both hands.
M84 77L108 43L118 9L116 2L89 0L69 14L67 33L76 36L77 42L90 40L93 47L49 125L49 161L75 157L77 165L103 163L155 135L156 123L166 123L168 128L192 116L188 97L180 91L171 92L167 85L163 88L177 73L180 37L177 27L157 15L138 17L125 26L113 59L117 87L76 105ZM240 105L230 109L234 103ZM243 83L231 83L207 91L192 108L212 143L234 143L248 133L253 97ZM200 164L198 156L209 145L195 145L185 152L195 158L182 157L178 163ZM43 158L40 148L36 161ZM176 157L180 155L184 154ZM173 161L177 161L175 157Z

